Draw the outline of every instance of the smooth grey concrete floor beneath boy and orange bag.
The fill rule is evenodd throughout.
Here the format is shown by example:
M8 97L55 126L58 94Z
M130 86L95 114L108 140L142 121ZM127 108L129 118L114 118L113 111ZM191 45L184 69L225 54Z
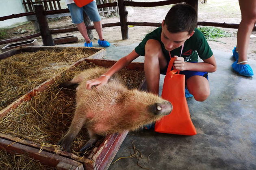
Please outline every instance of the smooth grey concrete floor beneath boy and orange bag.
M136 46L112 45L106 48L104 58L118 60ZM204 102L187 100L197 135L161 134L154 130L130 132L113 161L133 154L133 144L142 158L139 159L138 154L120 159L108 169L139 170L142 169L137 165L139 159L139 165L150 170L255 170L256 79L232 71L231 49L230 53L213 49L218 68L209 73L209 98ZM142 62L143 57L135 61ZM248 61L256 73L256 61ZM163 83L163 77L161 80Z

